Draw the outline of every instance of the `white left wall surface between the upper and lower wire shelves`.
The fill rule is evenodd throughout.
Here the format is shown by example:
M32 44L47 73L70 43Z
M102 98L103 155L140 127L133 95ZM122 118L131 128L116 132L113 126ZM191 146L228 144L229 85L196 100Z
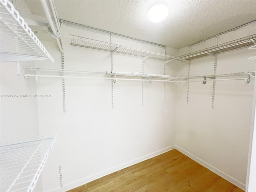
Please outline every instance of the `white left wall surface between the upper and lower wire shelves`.
M34 66L33 62L1 62L1 142L39 136L36 82L24 78L24 66ZM17 74L20 70L20 75ZM34 191L42 190L39 178Z

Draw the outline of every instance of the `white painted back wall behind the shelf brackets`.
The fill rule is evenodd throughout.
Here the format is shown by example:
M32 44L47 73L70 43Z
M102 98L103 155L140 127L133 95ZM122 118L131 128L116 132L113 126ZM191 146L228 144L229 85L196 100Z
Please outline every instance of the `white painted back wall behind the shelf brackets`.
M110 42L109 35L66 26L64 33ZM164 53L163 47L114 36L112 43ZM48 42L44 46L55 63L36 62L36 66L60 68L60 52ZM167 52L177 54L172 48ZM111 70L110 64L109 52L64 46L65 69L106 72ZM115 54L113 71L164 74L164 62L148 59L142 69L141 58ZM172 73L172 66L166 66L166 74ZM176 87L144 82L142 101L142 82L118 80L113 86L112 109L110 80L65 79L63 113L62 79L40 78L37 82L38 94L52 95L38 100L40 134L58 134L42 171L43 191L68 190L172 149Z

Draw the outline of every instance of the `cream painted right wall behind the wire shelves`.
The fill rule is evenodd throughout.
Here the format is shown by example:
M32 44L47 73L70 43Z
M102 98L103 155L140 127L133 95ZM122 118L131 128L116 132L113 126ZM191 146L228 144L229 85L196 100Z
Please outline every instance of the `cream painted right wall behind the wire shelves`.
M218 37L219 44L255 33L255 25ZM192 52L215 46L216 39L193 45ZM207 45L205 45L207 44ZM189 47L179 50L186 54ZM255 70L255 52L242 48L218 54L216 74ZM177 66L181 76L188 76L188 64ZM214 72L211 56L191 60L190 76ZM213 82L177 85L175 144L228 175L226 179L245 189L254 79L216 82L212 109ZM188 94L187 94L188 92ZM188 102L188 104L187 104ZM225 178L225 176L223 175Z

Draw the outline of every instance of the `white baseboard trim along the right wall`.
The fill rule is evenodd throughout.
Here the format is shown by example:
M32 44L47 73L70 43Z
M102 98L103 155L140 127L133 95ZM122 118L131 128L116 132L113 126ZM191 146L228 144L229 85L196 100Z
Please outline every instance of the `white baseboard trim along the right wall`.
M243 184L242 182L236 180L235 178L229 176L228 174L222 172L221 170L219 170L218 168L212 166L211 164L208 164L207 162L205 162L204 160L194 156L193 154L191 154L190 152L184 150L183 148L174 145L174 148L177 149L178 151L180 151L181 153L183 153L184 155L188 156L189 158L191 158L192 160L196 161L197 163L201 164L202 166L208 168L209 170L211 170L212 172L216 173L217 175L221 176L222 178L228 180L229 182L231 182L232 184L234 184L235 186L238 186L239 188L241 188L242 190L245 190L246 185Z

